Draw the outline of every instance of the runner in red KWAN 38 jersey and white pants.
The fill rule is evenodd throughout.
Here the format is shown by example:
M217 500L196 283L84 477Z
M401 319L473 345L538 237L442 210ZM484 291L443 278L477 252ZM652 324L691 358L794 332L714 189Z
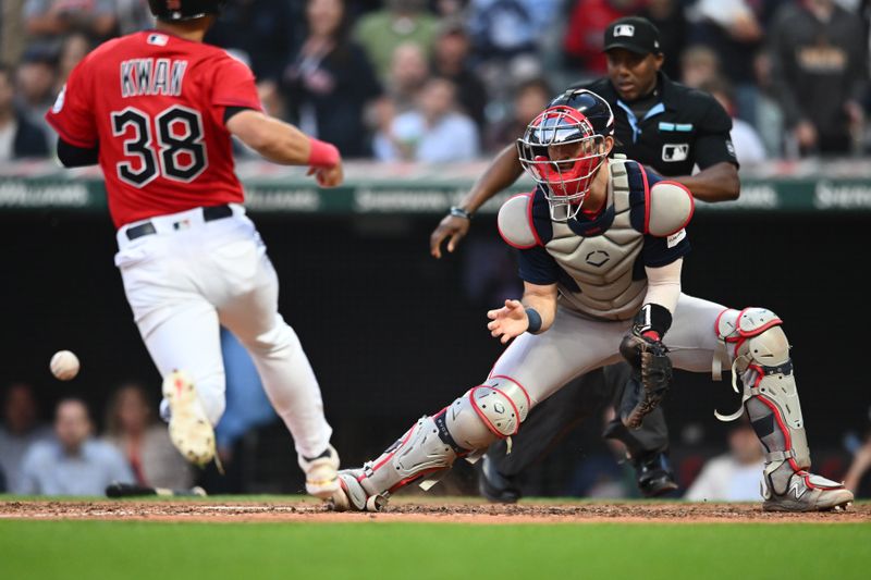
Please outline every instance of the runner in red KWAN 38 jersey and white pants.
M172 442L192 462L214 457L223 324L293 435L306 491L326 498L339 486L332 429L299 340L278 312L278 276L245 215L231 135L270 161L308 165L323 187L342 183L342 161L332 145L266 115L250 70L203 44L222 4L149 0L156 29L90 52L46 116L64 165L102 168L115 264L163 377Z

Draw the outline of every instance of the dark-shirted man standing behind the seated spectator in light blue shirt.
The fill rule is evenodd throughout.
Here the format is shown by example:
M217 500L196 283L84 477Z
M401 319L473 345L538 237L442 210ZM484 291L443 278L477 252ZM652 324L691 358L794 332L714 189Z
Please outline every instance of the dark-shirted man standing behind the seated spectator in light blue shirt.
M462 20L446 18L439 28L432 59L436 75L447 78L457 87L457 100L463 112L483 128L487 88L471 69L471 44Z

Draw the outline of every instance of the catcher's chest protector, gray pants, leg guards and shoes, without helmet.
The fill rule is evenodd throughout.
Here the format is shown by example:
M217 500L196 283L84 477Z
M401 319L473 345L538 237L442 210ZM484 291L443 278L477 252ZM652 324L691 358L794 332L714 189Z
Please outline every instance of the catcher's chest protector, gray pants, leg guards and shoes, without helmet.
M647 276L675 271L679 280L692 197L633 161L612 160L608 170L608 202L596 215L554 221L541 188L505 202L500 233L520 249L520 277L560 289L552 325L517 336L482 384L422 417L377 459L340 472L336 508L379 509L391 493L429 476L421 481L427 489L457 457L510 441L529 410L573 378L621 360L631 319L663 296ZM747 411L768 451L765 507L829 509L851 499L842 485L805 471L810 456L781 320L762 308L738 311L675 295L663 337L668 358L695 372L714 361L732 365L741 375Z

